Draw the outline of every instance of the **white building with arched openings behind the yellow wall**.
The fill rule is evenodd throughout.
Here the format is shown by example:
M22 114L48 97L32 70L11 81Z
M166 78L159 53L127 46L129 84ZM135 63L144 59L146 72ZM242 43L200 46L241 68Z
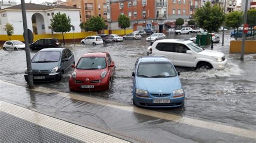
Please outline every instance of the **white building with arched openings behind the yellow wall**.
M46 6L41 4L26 4L26 20L28 28L33 34L50 34L50 19L55 13L66 13L71 19L71 25L75 26L74 32L81 32L80 29L80 9L65 5ZM23 34L23 22L21 5L11 6L0 10L0 34L6 34L5 24L14 26L14 34ZM70 31L72 32L72 30Z

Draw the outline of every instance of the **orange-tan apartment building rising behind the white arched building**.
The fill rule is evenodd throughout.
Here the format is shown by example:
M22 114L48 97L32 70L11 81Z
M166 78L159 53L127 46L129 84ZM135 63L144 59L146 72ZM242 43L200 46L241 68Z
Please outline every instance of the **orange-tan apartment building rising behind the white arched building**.
M107 25L107 0L68 0L62 5L80 8L80 22L86 22L92 16L103 17Z

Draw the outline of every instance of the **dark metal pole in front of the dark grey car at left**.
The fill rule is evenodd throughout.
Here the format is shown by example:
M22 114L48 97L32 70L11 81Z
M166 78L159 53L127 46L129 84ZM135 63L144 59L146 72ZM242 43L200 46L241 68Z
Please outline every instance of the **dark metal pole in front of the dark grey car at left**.
M23 30L24 30L24 40L25 40L25 52L26 52L26 67L28 70L28 83L29 83L29 88L34 88L31 56L30 56L30 48L29 48L29 33L28 33L28 25L26 23L26 8L25 8L24 0L21 0L21 6L22 6L22 21L23 21Z

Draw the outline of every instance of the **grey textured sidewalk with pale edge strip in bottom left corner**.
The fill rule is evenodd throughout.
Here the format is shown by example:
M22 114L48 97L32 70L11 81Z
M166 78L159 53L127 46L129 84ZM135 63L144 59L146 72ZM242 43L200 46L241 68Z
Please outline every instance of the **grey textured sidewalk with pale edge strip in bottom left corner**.
M0 142L127 142L0 101Z

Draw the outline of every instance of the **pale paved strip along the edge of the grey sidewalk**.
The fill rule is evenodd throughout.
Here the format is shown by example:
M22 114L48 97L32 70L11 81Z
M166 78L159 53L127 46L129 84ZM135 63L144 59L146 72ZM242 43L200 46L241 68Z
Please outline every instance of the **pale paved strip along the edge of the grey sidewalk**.
M57 118L52 118L3 101L0 101L0 111L84 142L127 142L125 140L112 137L109 134L91 130Z

